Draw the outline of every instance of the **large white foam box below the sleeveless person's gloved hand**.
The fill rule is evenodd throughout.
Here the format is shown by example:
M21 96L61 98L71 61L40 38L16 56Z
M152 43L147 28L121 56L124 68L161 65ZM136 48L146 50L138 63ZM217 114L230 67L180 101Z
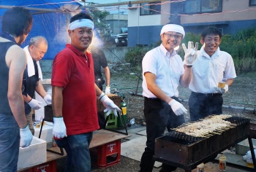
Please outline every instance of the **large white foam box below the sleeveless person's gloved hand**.
M46 162L46 141L33 137L30 146L20 147L18 170Z

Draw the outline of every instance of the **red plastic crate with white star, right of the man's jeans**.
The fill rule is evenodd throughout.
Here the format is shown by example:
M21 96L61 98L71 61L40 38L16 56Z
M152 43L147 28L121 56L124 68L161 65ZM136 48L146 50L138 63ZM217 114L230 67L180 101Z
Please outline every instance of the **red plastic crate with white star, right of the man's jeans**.
M91 165L107 168L120 163L121 139L90 149Z

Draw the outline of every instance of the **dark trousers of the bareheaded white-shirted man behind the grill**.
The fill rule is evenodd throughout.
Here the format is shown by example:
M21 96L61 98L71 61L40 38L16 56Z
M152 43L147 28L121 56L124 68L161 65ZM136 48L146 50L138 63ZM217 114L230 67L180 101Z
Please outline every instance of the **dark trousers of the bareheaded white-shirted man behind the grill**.
M211 114L222 114L222 94L203 94L192 92L189 97L190 120L196 121Z

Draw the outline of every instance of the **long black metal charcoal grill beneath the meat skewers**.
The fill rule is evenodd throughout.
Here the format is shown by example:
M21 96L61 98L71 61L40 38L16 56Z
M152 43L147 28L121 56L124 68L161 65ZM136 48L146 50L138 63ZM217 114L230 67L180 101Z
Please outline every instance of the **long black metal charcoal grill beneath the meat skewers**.
M230 146L249 138L249 119L230 117L225 120L233 127L222 133L213 132L208 137L189 136L173 129L156 138L155 160L191 171L198 164L207 163ZM253 150L253 146L250 145L250 149Z

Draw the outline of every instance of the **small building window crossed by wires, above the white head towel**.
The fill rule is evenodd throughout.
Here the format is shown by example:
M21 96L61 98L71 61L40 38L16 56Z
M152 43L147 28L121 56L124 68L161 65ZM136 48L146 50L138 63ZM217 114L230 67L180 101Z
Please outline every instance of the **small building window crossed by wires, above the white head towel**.
M161 1L146 2L140 4L140 15L159 15L161 12Z

